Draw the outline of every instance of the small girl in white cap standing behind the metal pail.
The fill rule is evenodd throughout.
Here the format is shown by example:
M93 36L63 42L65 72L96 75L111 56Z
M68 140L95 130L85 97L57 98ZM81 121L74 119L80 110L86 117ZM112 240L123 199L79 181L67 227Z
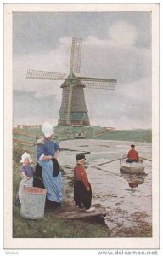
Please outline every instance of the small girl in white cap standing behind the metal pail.
M20 163L20 176L22 177L19 185L19 190L16 195L15 205L20 206L22 201L23 189L24 186L32 187L33 184L33 176L34 176L34 168L31 166L31 156L27 152L21 155Z

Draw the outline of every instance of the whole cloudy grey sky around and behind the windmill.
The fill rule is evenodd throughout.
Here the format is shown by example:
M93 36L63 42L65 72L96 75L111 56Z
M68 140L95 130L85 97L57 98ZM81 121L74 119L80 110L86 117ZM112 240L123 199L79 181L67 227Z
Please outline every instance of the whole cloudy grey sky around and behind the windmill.
M81 76L117 79L115 90L84 90L91 125L151 128L151 16L124 11L14 13L14 124L57 125L62 81L26 72L68 75L72 37L83 40Z

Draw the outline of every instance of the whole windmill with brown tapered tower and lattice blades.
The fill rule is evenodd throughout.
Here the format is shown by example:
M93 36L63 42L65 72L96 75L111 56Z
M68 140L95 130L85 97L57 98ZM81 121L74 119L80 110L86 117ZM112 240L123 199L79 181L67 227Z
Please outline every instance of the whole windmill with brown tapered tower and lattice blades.
M115 79L98 79L76 76L80 73L82 38L72 38L70 55L70 74L27 70L27 79L65 80L61 84L62 102L59 110L59 126L90 126L84 88L114 90Z

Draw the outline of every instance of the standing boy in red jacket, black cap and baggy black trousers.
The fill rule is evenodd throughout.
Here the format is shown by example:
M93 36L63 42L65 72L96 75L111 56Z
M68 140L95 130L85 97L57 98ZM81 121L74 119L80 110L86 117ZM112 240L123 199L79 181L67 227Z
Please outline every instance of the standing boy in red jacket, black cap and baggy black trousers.
M84 168L86 158L84 154L76 154L76 166L74 167L74 201L79 210L94 212L91 207L92 189Z

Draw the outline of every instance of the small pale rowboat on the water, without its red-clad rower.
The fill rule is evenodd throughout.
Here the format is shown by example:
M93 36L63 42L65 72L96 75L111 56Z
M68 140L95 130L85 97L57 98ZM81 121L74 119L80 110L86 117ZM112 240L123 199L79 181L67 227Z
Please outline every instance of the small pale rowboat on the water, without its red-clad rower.
M121 158L120 160L120 172L122 173L130 173L130 174L143 174L144 165L143 159L140 159L138 162L127 163L127 158Z

